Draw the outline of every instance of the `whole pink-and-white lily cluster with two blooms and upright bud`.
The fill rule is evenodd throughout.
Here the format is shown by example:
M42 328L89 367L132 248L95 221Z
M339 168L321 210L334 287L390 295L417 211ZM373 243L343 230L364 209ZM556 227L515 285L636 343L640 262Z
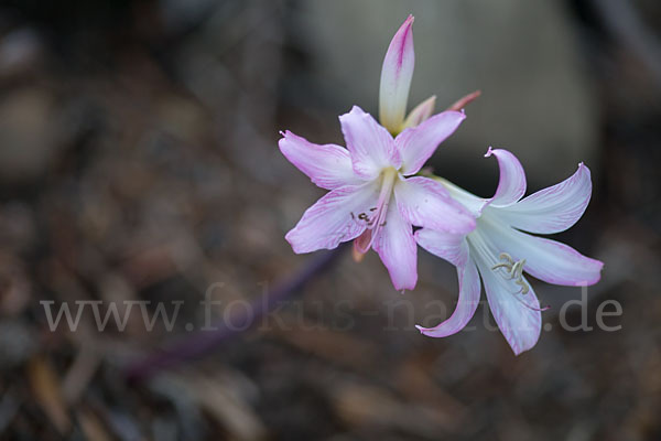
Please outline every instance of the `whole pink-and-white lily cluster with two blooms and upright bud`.
M415 288L420 245L456 266L459 281L452 316L420 331L441 337L466 326L479 303L481 277L496 322L520 354L537 343L544 310L523 272L564 286L588 286L600 278L600 261L528 234L559 233L578 220L592 194L589 170L582 163L567 180L523 197L521 163L507 150L489 148L486 157L497 159L500 181L488 200L444 179L418 175L466 118L458 109L476 94L436 115L432 96L407 115L415 58L412 24L409 17L383 60L380 123L354 106L339 117L346 148L281 133L286 159L329 191L285 238L295 252L333 249L348 240L354 240L355 256L372 248L402 291Z

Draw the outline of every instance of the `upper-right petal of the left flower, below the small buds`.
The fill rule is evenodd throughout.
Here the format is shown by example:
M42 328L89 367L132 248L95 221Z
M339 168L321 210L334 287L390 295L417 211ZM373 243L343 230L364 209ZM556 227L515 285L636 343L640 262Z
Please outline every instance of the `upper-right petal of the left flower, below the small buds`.
M402 131L394 140L402 155L402 173L405 176L420 171L436 148L459 127L466 116L447 110L434 115L418 127Z

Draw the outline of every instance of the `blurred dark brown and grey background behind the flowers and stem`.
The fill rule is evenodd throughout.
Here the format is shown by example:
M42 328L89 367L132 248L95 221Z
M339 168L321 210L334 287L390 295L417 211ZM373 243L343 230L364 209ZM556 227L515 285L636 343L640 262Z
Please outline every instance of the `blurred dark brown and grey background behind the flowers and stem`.
M409 13L410 107L483 92L437 174L491 195L488 146L530 191L593 171L559 238L605 262L567 309L594 330L560 326L579 289L533 281L552 309L532 351L513 356L483 306L473 330L424 337L454 269L421 250L402 297L375 254L345 252L261 325L182 355L209 286L223 321L318 258L284 240L323 191L278 131L344 144L337 116L376 114ZM0 1L0 439L661 439L660 30L653 0ZM43 301L80 300L183 303L171 330L84 313L52 331ZM619 331L595 324L607 300ZM171 368L149 358L173 345Z

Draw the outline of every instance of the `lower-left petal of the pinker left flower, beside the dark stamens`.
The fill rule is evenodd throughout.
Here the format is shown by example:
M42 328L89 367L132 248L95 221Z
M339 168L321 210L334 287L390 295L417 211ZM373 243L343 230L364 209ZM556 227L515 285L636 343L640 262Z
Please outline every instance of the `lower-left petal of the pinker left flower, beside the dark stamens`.
M359 214L369 213L378 196L377 183L333 190L307 208L284 238L296 254L333 249L365 230L366 224L359 219Z

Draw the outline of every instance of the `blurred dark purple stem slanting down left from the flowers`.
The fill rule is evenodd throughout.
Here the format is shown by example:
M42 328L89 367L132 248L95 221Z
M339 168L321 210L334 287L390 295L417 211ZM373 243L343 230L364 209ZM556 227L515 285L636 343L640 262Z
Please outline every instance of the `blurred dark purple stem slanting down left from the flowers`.
M223 341L231 337L235 334L243 332L247 327L252 326L258 319L268 314L278 303L290 298L295 292L301 290L315 276L328 269L337 257L347 249L347 244L342 244L334 250L321 252L311 259L305 267L299 272L283 280L275 286L273 290L264 293L264 298L260 298L252 303L250 316L245 311L242 314L237 314L232 318L231 323L246 323L251 321L249 326L228 327L226 322L216 323L213 331L198 331L186 338L174 342L169 347L148 355L145 358L130 364L124 369L124 377L130 383L141 383L161 370L174 367L181 363L203 356L218 346ZM239 316L241 315L241 316Z

